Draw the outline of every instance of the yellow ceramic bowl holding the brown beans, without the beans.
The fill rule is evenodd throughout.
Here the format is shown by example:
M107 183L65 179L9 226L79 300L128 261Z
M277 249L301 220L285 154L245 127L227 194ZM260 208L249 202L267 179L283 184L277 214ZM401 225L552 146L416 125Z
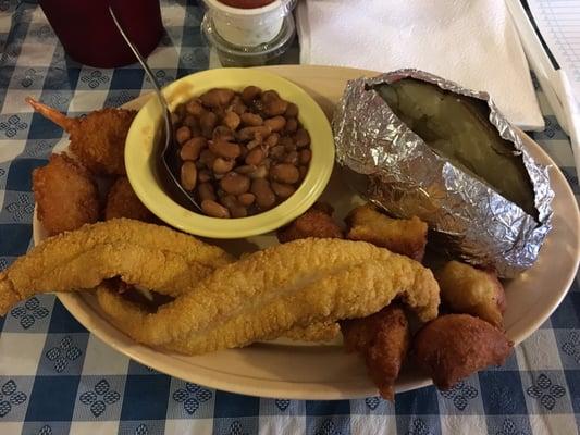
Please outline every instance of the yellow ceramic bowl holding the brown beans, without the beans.
M296 192L277 207L248 217L215 219L192 212L173 201L161 188L156 173L156 156L161 133L161 108L151 98L139 111L125 146L127 176L141 202L159 219L184 232L212 238L242 238L268 233L304 213L322 194L334 165L334 141L326 116L301 88L277 75L259 70L209 70L183 77L163 89L170 107L189 100L211 88L242 90L248 85L275 89L299 108L299 121L310 133L312 160Z

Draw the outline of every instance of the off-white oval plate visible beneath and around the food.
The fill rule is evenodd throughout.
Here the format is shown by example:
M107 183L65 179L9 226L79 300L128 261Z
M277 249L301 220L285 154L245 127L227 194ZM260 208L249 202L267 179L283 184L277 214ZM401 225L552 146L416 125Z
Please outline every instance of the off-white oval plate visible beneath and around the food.
M268 70L301 86L329 115L346 80L377 74L325 66L271 66ZM140 97L125 107L138 109L145 100ZM505 324L508 337L516 344L532 334L559 304L575 278L580 258L580 219L572 191L557 165L540 146L523 133L522 138L539 163L552 166L552 187L556 196L553 202L554 228L538 262L517 279L505 283ZM59 148L65 146L63 140ZM337 217L343 217L360 201L353 191L346 190L345 183L336 174L322 199L333 204ZM38 244L46 234L36 214L33 225L34 241ZM239 254L248 247L256 249L274 243L273 235L266 235L249 240L224 241L224 247ZM347 399L378 393L367 376L363 363L336 344L305 346L276 340L185 357L135 343L107 321L90 294L58 296L78 322L114 349L145 365L189 382L233 393L287 399ZM400 393L429 384L429 378L409 366L399 377L396 390Z

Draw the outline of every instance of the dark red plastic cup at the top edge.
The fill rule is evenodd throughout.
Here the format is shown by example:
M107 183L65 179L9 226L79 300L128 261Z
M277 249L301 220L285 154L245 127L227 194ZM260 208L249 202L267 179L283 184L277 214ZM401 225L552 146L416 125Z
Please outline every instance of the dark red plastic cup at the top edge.
M121 26L147 57L163 34L159 0L39 0L64 50L75 61L98 67L136 61L109 14L111 4Z

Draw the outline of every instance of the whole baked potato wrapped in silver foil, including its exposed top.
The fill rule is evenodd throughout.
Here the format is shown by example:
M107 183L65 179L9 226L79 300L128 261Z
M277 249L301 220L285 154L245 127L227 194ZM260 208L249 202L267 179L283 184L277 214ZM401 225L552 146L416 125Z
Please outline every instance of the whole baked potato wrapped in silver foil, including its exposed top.
M363 176L360 194L427 222L431 247L501 277L536 260L551 229L548 170L488 94L417 70L359 78L333 130L338 163Z

